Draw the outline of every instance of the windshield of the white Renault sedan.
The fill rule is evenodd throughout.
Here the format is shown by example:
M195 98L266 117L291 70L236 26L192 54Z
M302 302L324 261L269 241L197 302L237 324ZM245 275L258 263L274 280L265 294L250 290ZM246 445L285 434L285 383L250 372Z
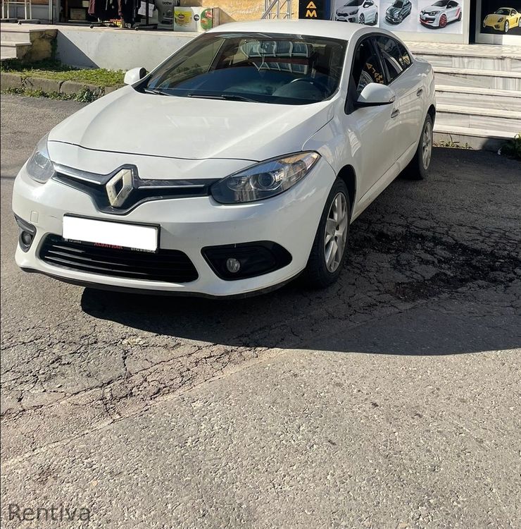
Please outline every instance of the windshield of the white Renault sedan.
M158 95L309 104L337 90L347 41L303 35L208 33L153 71Z

